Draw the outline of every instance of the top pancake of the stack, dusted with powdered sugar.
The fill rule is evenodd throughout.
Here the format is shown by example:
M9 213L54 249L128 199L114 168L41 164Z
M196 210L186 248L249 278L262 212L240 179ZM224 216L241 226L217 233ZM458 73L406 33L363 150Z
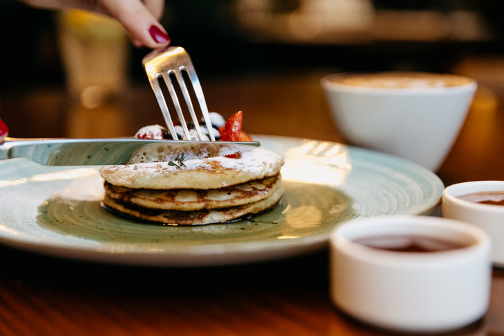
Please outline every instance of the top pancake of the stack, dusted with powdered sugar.
M132 189L218 189L273 177L284 159L265 148L243 152L238 159L209 157L173 162L102 166L100 174L114 186Z

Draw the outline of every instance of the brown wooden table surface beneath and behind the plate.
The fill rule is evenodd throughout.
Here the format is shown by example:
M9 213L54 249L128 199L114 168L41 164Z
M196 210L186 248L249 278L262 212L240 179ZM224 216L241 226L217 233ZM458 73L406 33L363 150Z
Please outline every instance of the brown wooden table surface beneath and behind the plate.
M209 109L244 112L252 134L342 141L320 89L324 71L200 78ZM496 91L495 91L496 92ZM437 175L445 186L504 180L504 107L480 87ZM60 87L0 93L0 118L18 137L128 136L163 123L148 87L83 108ZM1 335L382 335L329 299L327 250L225 267L133 267L0 247ZM455 335L504 335L504 270L494 269L483 319Z

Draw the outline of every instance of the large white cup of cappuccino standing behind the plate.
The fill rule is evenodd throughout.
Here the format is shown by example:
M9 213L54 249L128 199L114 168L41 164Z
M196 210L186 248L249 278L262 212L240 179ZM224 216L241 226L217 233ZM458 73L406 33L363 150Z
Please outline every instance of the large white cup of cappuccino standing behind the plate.
M399 75L414 79L407 85L392 77L383 87L372 87L376 80L356 86L337 81L362 75L342 73L325 76L321 85L347 143L403 157L436 171L460 132L476 82L448 74ZM422 76L433 76L433 80ZM444 78L459 78L461 85L442 86Z

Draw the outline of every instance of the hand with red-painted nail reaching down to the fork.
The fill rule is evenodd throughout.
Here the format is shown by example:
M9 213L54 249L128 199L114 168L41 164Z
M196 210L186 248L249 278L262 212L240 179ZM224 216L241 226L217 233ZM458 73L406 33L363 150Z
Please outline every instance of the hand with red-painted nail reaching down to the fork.
M20 0L28 6L62 9L76 8L114 17L124 26L135 46L159 48L170 44L159 24L164 0Z

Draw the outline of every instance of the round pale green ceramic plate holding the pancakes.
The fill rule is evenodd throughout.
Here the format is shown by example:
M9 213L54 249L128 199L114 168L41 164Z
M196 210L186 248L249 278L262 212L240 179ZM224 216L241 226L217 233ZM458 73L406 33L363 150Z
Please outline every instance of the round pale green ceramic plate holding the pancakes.
M341 222L431 212L444 188L432 172L387 154L255 136L284 155L286 194L272 211L234 223L169 227L101 207L97 168L0 161L0 242L42 254L133 265L247 263L321 249Z

